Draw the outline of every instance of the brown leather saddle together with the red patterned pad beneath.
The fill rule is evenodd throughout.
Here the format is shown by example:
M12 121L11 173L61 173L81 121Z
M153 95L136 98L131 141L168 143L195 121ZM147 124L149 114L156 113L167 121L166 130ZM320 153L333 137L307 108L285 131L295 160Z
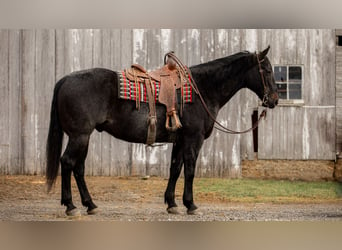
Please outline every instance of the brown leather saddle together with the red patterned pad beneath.
M148 134L146 144L152 145L156 139L156 108L159 102L166 106L165 127L170 132L175 132L182 127L178 116L177 90L181 89L180 112L182 113L184 102L192 101L191 80L186 71L179 69L173 52L164 57L164 66L147 72L141 65L133 64L131 68L119 72L120 90L119 96L123 99L136 101L136 108L140 108L140 102L148 102Z

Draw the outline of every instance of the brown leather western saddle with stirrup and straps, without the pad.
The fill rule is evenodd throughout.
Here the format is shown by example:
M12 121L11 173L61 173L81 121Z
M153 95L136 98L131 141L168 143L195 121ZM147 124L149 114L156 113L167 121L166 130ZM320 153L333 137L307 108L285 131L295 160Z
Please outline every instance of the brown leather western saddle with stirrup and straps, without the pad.
M182 127L177 114L177 98L176 90L180 89L183 82L188 81L185 67L179 59L174 55L174 52L169 52L164 57L164 66L154 71L147 72L144 67L139 64L133 64L131 68L125 69L126 77L138 83L143 82L146 86L146 92L149 103L149 118L148 118L148 133L146 144L152 145L156 139L156 107L155 107L155 91L153 91L152 80L160 82L159 103L166 106L166 123L165 127L170 132L175 132ZM139 91L136 93L136 107L140 108ZM181 110L183 102L181 98Z

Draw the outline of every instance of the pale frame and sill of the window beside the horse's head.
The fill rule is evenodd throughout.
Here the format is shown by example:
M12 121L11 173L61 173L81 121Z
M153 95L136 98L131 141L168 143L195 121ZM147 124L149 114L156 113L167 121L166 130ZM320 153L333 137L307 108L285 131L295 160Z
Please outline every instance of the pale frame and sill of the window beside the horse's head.
M304 84L305 84L305 74L304 74L304 65L303 64L274 64L272 65L273 67L273 72L275 72L275 67L286 67L287 69L287 75L286 75L286 88L287 88L287 98L282 99L279 98L278 105L281 106L302 106L304 105L304 98L303 98L303 89L304 89ZM301 73L302 73L302 78L301 78L301 98L300 99L289 99L289 85L291 85L291 81L289 80L289 68L290 67L300 67L301 68ZM275 81L277 84L277 81ZM285 83L283 83L285 84Z

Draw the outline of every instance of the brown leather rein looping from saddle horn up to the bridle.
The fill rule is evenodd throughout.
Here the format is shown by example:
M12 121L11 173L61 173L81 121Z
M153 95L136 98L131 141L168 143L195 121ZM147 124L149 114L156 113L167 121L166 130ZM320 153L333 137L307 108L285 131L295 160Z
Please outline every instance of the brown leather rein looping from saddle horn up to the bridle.
M256 128L259 126L259 123L260 123L262 117L265 117L265 118L266 118L266 113L267 113L267 112L266 112L266 109L264 109L264 110L261 112L261 114L260 114L260 116L259 116L259 119L253 124L253 126L252 126L251 128L249 128L249 129L247 129L247 130L244 130L244 131L235 131L235 130L232 130L232 129L229 129L229 128L223 126L220 122L218 122L218 121L216 120L216 118L214 117L214 115L213 115L212 113L210 113L207 104L205 103L205 101L204 101L204 99L203 99L201 93L200 93L199 90L198 90L197 84L196 84L195 79L193 78L193 76L192 76L192 74L191 74L191 71L190 71L187 67L184 66L184 64L179 60L178 57L176 57L176 55L174 54L173 51L171 51L171 52L169 52L169 53L167 53L167 54L165 55L165 57L164 57L164 62L166 61L166 57L167 57L167 56L168 56L168 57L171 57L173 60L175 60L175 62L177 63L177 65L179 66L179 68L180 68L180 70L182 71L183 74L185 74L186 72L188 73L188 75L189 75L189 77L190 77L190 85L191 85L191 87L194 89L195 93L199 96L199 98L200 98L200 100L201 100L201 103L202 103L202 105L203 105L205 111L206 111L207 114L209 115L209 117L210 117L210 118L214 121L214 123L217 125L217 126L215 126L215 128L216 128L217 130L219 130L219 131L221 131L221 132L224 132L224 133L227 133L227 134L245 134L245 133L248 133L248 132L250 132L250 131L256 129ZM258 54L256 54L256 56L257 56L258 65L259 65L259 73L260 73L260 76L261 76L262 83L263 83L263 85L264 85L264 92L265 92L262 102L263 102L263 104L266 105L267 102L268 102L268 96L267 96L267 93L268 93L267 90L268 90L268 88L267 88L267 86L266 86L265 79L264 79L264 76L263 76L263 70L262 70L262 68L261 68L261 62L262 62L263 60L259 60Z

